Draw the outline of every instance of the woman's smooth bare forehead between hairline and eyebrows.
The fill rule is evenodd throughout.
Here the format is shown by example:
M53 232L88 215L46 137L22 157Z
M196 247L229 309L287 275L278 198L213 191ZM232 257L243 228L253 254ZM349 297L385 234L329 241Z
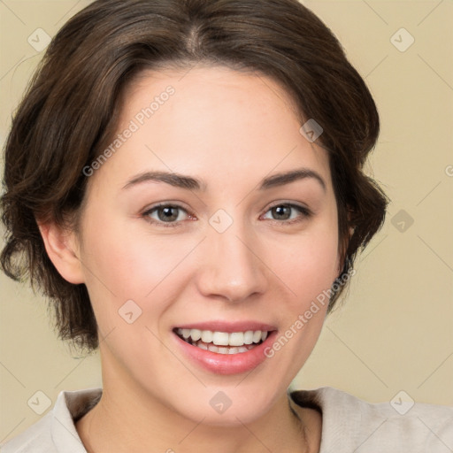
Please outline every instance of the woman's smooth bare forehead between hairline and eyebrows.
M306 166L328 184L326 151L303 137L300 122L291 96L262 74L217 66L143 72L119 111L117 133L133 127L134 134L99 173L111 167L261 180L274 168Z

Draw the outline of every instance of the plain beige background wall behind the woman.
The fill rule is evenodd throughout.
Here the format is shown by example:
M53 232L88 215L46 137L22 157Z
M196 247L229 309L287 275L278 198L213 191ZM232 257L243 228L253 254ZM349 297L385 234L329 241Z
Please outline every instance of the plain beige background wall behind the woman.
M37 28L54 35L88 3L0 0L2 144L42 57L28 36ZM331 27L372 89L382 132L367 171L392 203L294 388L333 386L370 402L390 402L404 390L418 403L453 405L453 2L304 4ZM409 43L405 32L395 35L402 27L415 39L405 51L392 43ZM41 417L27 405L36 391L54 403L62 389L101 380L97 355L71 357L58 342L40 296L2 273L0 297L3 442Z

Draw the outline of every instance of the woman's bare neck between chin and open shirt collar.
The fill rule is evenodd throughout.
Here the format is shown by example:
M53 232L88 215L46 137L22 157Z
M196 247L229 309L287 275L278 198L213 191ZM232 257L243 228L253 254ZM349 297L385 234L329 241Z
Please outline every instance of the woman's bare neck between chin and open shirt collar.
M250 423L237 418L234 426L213 426L182 416L124 376L109 378L99 403L76 423L88 453L319 451L320 419L286 393ZM308 439L306 433L316 434Z

